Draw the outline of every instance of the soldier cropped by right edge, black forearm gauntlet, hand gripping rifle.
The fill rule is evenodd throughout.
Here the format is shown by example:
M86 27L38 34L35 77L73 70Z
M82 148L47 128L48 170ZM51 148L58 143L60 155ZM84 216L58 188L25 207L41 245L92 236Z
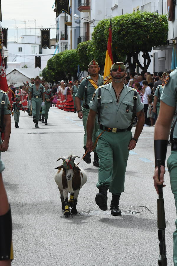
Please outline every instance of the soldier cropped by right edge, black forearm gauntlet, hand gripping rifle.
M165 157L168 145L168 137L171 129L171 155L167 160L168 171L170 173L171 190L174 195L177 210L177 68L167 74L163 82L165 84L160 97L160 112L155 123L154 150L155 150L155 172L154 186L158 193L158 185L163 185L165 174ZM161 161L160 181L158 179L157 160ZM163 185L165 186L165 185ZM173 262L177 266L177 219L175 221L176 230L173 233Z

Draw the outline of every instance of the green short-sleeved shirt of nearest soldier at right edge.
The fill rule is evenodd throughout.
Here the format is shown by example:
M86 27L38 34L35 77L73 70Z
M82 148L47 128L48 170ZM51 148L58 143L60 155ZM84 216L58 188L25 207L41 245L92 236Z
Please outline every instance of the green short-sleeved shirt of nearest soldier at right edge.
M177 67L173 72L170 73L170 79L164 86L160 100L169 106L176 107L174 121L177 118ZM173 138L177 138L177 123L173 131Z

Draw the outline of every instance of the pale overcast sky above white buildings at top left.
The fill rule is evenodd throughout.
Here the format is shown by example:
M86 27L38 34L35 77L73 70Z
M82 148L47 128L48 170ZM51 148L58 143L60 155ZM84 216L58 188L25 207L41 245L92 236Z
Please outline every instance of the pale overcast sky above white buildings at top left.
M36 35L40 35L40 28L56 27L56 13L52 9L54 2L55 0L1 0L1 26L8 28L8 41L14 41L14 35L16 35L16 41L21 34L35 35L35 29L32 29L35 28L34 20L36 20ZM15 24L18 27L16 31ZM56 30L51 29L50 38L55 37Z

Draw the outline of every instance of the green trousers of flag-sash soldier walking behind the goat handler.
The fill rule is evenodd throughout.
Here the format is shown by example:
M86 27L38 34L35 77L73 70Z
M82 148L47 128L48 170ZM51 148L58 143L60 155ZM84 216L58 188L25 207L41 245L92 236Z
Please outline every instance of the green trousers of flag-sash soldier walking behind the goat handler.
M84 126L84 131L85 131L85 134L84 134L84 137L83 137L83 148L86 147L86 142L87 142L87 129L86 129L86 124L87 124L87 118L88 118L88 115L89 115L89 109L86 109L86 108L82 108L82 113L83 113L83 119L82 119L82 122L83 122L83 126ZM93 142L93 145L96 141L96 132L98 131L99 129L99 125L96 123L96 119L95 119L95 126L94 126L94 130L93 130L93 133L92 133L92 142ZM96 150L94 150L96 151Z

